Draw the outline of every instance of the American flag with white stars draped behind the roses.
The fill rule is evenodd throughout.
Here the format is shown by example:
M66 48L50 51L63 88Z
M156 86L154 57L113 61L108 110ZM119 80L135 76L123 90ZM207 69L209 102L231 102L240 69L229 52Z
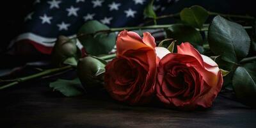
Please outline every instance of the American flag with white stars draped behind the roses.
M159 14L175 2L156 0L154 10ZM75 36L88 20L99 20L111 28L138 26L148 3L150 0L35 0L35 9L24 17L24 29L10 47L29 43L37 51L51 54L56 37Z

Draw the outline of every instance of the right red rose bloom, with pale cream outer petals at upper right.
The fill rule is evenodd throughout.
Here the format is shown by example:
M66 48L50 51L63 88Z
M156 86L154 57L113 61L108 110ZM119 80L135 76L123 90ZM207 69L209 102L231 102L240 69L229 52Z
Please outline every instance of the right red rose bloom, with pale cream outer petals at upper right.
M156 95L166 106L209 108L223 83L218 65L188 42L177 46L159 62Z

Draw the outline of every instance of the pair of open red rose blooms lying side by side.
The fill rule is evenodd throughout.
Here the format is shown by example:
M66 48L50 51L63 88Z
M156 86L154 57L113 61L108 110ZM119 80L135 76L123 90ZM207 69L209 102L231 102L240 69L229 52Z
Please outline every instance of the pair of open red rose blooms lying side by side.
M156 47L154 37L121 31L116 58L106 65L105 87L113 99L129 104L150 102L157 96L166 106L208 108L221 90L222 74L211 58L188 42L177 53Z

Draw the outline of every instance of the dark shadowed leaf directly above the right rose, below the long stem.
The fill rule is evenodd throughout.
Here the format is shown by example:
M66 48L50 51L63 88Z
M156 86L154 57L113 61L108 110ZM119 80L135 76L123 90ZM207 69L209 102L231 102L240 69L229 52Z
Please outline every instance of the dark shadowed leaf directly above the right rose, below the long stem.
M182 42L189 42L192 45L202 45L203 39L199 31L195 28L184 24L173 24L166 29L167 38L177 40L177 45Z

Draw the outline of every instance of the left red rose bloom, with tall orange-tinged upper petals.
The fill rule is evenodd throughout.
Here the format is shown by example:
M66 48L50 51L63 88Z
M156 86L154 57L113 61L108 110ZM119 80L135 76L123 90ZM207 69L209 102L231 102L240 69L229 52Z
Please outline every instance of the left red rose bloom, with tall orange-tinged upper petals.
M122 31L116 40L116 58L106 65L105 87L113 99L129 104L149 102L157 74L155 39Z

